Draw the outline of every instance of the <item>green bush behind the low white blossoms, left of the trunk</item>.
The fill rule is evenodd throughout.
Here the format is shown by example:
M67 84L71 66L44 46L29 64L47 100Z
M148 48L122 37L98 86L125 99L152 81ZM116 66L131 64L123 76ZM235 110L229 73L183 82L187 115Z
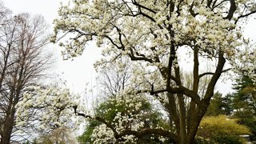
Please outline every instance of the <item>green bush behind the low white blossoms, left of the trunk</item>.
M133 114L142 114L139 118L139 121L145 123L145 127L156 127L161 126L167 130L170 130L169 125L161 118L161 114L153 110L153 107L148 101L142 101L142 106L139 110L130 110L130 107L127 106L127 103L118 103L115 98L109 98L106 102L102 102L98 108L95 110L95 116L104 118L107 122L114 122L114 118L118 113L129 114L132 111ZM150 121L146 120L149 119ZM84 133L78 137L78 142L81 143L93 143L90 136L93 133L93 130L96 126L100 126L102 123L96 120L90 120L89 124L86 126ZM151 139L154 137L154 140ZM148 143L148 142L162 143L158 140L157 136L152 136L150 134L145 135L142 138L138 138L138 143ZM167 140L168 141L168 140Z

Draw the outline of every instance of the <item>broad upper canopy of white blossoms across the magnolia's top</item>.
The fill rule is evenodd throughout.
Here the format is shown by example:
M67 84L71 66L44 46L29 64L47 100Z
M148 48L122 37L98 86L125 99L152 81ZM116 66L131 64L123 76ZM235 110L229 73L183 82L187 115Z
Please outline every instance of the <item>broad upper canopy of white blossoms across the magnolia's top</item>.
M196 16L190 12L192 3ZM109 57L96 65L132 55L152 59L154 66L162 68L166 56L170 54L168 47L172 42L176 43L177 49L198 46L200 54L207 58L218 57L219 50L230 58L237 55L238 47L244 44L235 17L240 14L239 10L244 10L243 5L252 10L255 7L254 2L238 2L234 19L228 20L223 15L226 13L226 2L212 10L207 8L206 2L177 1L174 5L180 10L171 13L166 2L140 1L139 4L150 9L142 9L146 18L139 16L139 10L129 1L80 0L74 1L73 6L62 6L59 10L61 17L54 21L53 41L58 37L59 30L72 32L69 35L71 41L60 42L66 48L63 51L65 58L71 58L82 54L86 42L95 38L98 46L106 48L103 55ZM135 17L135 14L138 16ZM155 62L156 57L160 62Z

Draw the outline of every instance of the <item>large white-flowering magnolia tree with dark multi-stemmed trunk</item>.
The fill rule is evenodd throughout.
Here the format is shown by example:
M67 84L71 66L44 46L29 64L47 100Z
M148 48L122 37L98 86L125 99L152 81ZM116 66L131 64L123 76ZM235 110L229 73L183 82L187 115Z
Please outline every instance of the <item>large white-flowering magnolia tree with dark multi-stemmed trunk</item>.
M120 130L97 118L114 138L158 134L176 143L193 143L222 73L233 69L256 79L255 48L243 38L241 26L254 13L256 3L242 0L74 0L60 7L52 41L65 48L64 58L72 58L95 40L103 49L104 58L96 63L99 68L109 62L122 66L122 59L130 58L137 68L123 94L158 99L175 129ZM192 88L182 81L186 60L192 66ZM211 71L203 67L206 61L214 65ZM199 93L207 75L210 82Z

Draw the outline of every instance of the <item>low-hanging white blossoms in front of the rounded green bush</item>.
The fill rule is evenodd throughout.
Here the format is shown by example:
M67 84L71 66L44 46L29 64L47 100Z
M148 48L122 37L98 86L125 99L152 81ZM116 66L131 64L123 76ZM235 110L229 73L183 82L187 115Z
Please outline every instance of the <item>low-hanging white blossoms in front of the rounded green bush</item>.
M125 95L122 95L125 94ZM134 130L139 131L146 128L146 126L150 126L153 128L150 123L150 108L145 108L147 106L145 95L142 94L126 94L126 92L120 92L112 101L117 102L116 106L123 107L125 110L122 112L117 112L113 120L110 121L111 126L114 126L114 130L118 134L121 134L126 130ZM109 112L108 109L105 111L107 114ZM160 127L157 127L160 128ZM107 127L105 124L97 126L93 134L91 136L94 143L109 143L116 142L117 139L114 138L114 132ZM120 142L123 143L134 143L138 138L136 138L133 134L126 134L120 138Z

